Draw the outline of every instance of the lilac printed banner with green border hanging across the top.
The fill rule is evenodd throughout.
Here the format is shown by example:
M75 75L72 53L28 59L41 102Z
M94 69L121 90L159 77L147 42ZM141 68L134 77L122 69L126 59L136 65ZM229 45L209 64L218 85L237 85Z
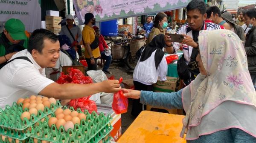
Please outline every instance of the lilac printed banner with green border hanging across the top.
M73 0L79 23L90 12L96 22L135 17L186 7L191 0Z

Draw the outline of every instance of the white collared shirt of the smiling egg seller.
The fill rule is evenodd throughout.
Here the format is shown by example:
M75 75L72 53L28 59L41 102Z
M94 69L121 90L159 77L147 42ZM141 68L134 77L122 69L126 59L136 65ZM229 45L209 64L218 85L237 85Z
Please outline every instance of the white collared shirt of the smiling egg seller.
M19 98L37 95L54 81L45 77L45 69L35 62L26 49L14 54L15 57L26 56L31 60L16 59L0 69L0 108L7 104L12 106Z

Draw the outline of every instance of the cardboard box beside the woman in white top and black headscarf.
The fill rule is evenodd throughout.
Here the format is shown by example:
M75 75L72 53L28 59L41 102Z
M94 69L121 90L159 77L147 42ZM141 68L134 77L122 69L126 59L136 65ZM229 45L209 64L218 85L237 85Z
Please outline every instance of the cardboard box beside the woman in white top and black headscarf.
M177 86L177 77L167 77L166 81L157 80L153 85L155 92L175 92Z

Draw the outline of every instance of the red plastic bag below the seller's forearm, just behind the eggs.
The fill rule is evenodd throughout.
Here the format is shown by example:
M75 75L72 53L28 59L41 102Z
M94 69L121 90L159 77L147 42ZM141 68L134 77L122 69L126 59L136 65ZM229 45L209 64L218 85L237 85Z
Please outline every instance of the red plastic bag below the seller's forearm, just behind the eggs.
M97 106L96 103L93 100L90 100L91 96L82 97L78 99L72 99L70 100L70 106L73 106L76 110L77 108L80 108L82 112L84 110L88 110L88 112L91 114L93 111L97 112Z

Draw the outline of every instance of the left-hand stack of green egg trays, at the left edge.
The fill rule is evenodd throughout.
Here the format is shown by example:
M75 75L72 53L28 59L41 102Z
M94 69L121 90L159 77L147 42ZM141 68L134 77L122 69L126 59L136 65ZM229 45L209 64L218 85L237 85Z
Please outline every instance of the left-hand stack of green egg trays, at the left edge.
M12 107L6 105L5 110L0 109L0 134L12 137L18 140L25 140L27 138L26 132L29 127L32 127L33 124L37 123L44 117L55 112L55 110L61 106L59 101L56 102L56 105L51 104L50 109L45 107L44 111L39 110L38 114L35 116L32 114L30 119L24 118L22 121L20 116L23 112L29 111L25 108L23 110L23 104L20 103L17 105L16 102L12 104Z

